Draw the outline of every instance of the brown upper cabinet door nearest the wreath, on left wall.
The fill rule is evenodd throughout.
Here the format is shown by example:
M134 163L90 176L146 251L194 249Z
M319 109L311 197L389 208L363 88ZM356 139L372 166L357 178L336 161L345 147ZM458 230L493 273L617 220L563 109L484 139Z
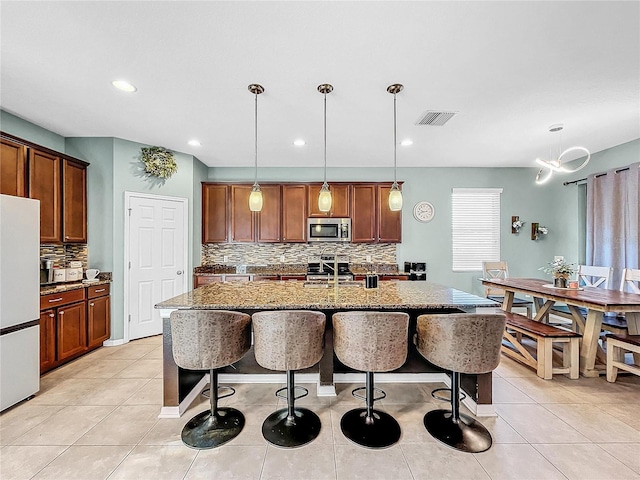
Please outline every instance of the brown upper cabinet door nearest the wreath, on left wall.
M62 241L87 243L87 167L62 161Z

